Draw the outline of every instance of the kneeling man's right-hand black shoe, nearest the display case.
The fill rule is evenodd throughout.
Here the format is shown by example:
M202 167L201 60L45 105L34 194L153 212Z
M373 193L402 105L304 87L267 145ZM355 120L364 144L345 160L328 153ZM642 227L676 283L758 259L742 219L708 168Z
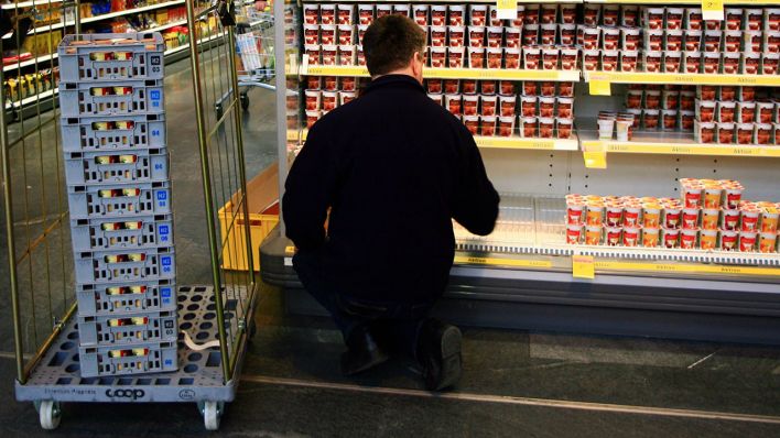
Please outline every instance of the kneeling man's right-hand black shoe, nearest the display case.
M455 326L433 318L423 324L418 351L423 368L423 380L429 391L445 390L461 380L462 340L463 335Z

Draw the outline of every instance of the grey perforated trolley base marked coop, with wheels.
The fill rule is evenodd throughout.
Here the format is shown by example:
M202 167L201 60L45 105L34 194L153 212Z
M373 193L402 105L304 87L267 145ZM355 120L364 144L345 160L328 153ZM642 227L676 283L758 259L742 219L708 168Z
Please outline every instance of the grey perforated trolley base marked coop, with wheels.
M240 302L246 299L245 288L223 292L225 324L232 330L238 321L247 317L247 331L251 336L254 329L251 308L242 309ZM57 415L57 402L99 402L99 403L197 403L206 419L206 428L218 428L224 403L232 402L238 386L240 366L246 352L246 337L237 346L229 346L228 351L239 349L234 379L227 383L223 377L223 358L218 347L203 351L187 348L182 331L186 331L197 344L218 339L217 313L214 304L213 286L178 287L178 370L175 372L130 374L118 376L82 377L78 361L78 328L76 318L71 318L58 338L43 354L33 369L25 384L15 383L17 399L35 402L41 413L44 428L44 409L50 412L54 403ZM229 339L230 337L228 337ZM216 427L209 413L216 415ZM58 418L57 418L58 423ZM51 426L51 424L50 424Z

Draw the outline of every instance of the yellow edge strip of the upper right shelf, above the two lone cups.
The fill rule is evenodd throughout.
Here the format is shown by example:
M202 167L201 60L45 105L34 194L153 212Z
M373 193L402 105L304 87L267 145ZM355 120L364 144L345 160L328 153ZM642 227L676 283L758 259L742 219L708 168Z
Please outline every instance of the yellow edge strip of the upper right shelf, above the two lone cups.
M678 73L583 72L586 83L679 84L679 85L751 85L780 87L780 75L707 75Z

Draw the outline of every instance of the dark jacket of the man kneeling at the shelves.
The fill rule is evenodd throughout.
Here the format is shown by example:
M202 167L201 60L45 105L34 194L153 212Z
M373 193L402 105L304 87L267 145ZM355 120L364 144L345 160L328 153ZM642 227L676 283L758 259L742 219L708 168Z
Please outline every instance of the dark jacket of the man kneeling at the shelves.
M488 234L498 202L463 123L412 77L388 75L312 127L282 207L288 237L335 291L418 303L447 284L451 219Z

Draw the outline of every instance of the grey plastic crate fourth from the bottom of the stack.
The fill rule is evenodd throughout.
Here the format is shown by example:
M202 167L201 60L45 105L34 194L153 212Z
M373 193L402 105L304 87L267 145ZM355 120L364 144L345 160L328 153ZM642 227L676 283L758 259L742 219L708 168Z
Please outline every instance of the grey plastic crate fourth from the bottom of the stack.
M172 248L113 252L77 252L77 283L124 283L174 280L176 258Z

